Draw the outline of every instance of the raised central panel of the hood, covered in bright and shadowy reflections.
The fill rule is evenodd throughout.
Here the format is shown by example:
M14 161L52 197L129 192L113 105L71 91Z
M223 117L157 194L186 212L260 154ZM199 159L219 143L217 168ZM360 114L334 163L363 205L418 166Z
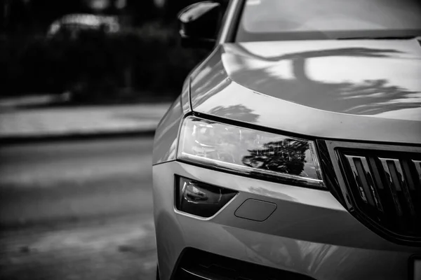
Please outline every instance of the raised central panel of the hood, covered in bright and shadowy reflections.
M228 75L250 90L370 116L420 109L420 59L415 40L241 43L226 45L222 55Z

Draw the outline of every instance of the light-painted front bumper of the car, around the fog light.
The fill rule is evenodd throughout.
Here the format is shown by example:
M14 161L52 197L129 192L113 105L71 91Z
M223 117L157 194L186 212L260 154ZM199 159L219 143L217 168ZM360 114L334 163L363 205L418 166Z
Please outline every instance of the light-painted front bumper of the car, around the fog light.
M174 210L175 175L239 192L208 221ZM181 162L153 167L154 219L162 280L171 279L186 248L328 279L408 279L421 248L375 235L325 190L312 190L203 169ZM266 221L234 216L248 199L276 204Z

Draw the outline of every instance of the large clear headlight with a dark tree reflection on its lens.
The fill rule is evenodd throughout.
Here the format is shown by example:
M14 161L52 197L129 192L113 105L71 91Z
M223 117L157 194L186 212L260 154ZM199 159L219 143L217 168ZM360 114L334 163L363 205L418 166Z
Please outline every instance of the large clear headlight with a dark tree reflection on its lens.
M246 176L325 188L313 141L195 116L182 123L177 159Z

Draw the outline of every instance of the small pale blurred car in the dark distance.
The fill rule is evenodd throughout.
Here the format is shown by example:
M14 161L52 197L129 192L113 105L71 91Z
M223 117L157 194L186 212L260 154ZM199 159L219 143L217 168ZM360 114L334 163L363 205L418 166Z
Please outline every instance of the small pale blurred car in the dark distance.
M81 31L105 31L112 34L121 29L119 19L113 15L69 14L55 20L48 29L48 36L69 34L76 38Z

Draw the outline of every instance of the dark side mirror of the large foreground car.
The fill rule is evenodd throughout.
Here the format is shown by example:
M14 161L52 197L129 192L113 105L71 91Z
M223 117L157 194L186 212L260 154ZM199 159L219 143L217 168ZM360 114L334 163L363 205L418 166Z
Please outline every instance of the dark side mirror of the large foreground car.
M222 20L222 6L215 1L201 1L178 14L181 44L184 47L213 48Z

